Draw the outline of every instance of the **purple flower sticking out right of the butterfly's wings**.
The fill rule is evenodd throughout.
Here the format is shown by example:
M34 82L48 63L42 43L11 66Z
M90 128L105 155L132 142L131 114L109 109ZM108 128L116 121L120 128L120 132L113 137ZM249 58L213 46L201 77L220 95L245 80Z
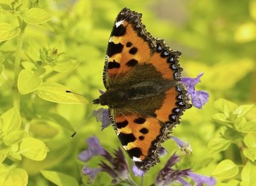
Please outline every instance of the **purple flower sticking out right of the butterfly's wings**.
M191 96L191 102L196 108L202 109L202 106L208 102L209 93L203 90L196 91L195 85L200 82L204 73L200 73L196 78L181 78L181 82L187 87L188 95Z

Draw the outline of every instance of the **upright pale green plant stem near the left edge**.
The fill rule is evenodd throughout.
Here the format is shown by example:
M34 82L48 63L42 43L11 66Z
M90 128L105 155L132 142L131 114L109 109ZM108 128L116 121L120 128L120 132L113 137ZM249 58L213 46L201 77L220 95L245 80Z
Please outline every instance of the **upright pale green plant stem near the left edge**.
M20 92L18 90L18 77L20 73L20 56L22 49L22 41L24 37L24 32L27 24L22 22L19 18L20 23L20 33L18 35L17 47L16 47L16 57L14 61L14 82L13 82L13 107L20 111Z

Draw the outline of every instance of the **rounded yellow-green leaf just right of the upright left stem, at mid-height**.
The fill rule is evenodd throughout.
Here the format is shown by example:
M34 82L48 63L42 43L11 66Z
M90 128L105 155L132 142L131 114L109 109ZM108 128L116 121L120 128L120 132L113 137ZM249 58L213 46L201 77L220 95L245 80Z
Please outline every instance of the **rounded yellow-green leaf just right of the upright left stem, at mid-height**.
M41 77L33 74L29 70L22 70L18 77L18 89L20 94L28 94L41 86L43 80Z

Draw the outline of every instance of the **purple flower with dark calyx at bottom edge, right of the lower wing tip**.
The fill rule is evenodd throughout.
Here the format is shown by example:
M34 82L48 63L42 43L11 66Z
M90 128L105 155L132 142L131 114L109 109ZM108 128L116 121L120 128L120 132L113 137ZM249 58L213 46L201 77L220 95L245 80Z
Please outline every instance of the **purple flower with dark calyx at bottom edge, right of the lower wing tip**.
M207 185L215 185L216 180L213 177L203 176L191 172L190 169L186 170L174 170L173 166L180 161L179 156L174 153L171 158L167 161L164 168L159 171L156 179L155 185L171 185L174 182L180 182L182 185L191 186L191 184L183 179L183 177L190 177L193 179L198 186L202 186L203 183Z

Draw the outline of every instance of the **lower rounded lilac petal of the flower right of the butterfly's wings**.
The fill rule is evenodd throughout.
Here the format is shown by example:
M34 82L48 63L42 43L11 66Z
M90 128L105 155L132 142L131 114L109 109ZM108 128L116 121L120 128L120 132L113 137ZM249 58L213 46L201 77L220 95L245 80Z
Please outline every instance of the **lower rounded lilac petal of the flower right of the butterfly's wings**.
M195 91L194 95L191 95L191 102L196 108L202 109L202 106L208 102L209 93L203 90Z

